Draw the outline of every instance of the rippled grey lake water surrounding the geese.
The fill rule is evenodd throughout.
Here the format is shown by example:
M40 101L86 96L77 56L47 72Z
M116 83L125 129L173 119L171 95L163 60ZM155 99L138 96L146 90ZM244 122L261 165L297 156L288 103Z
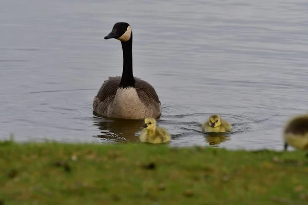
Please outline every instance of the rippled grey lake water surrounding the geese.
M104 40L122 21L170 146L281 150L285 120L308 110L304 0L0 2L0 139L137 141L142 121L92 114L103 81L122 74L120 42ZM214 113L232 133L201 132Z

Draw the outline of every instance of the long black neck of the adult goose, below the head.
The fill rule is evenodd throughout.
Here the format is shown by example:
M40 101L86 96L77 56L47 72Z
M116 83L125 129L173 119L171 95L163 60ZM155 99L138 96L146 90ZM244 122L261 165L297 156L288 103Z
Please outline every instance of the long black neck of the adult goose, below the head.
M121 42L123 50L123 72L120 88L134 87L135 79L132 74L132 33L127 42Z

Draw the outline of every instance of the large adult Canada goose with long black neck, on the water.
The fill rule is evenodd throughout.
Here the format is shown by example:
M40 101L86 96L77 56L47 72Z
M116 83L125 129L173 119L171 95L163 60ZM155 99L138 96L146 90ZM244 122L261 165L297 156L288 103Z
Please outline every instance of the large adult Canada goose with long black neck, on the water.
M93 99L93 111L103 117L144 119L161 116L161 102L155 89L132 74L132 31L118 22L105 39L120 40L123 51L122 77L109 77Z

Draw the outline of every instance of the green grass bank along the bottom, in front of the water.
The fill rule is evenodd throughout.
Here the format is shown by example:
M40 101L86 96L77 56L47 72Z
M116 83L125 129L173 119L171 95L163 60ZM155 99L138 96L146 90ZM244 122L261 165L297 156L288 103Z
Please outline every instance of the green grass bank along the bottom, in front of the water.
M0 204L308 204L303 152L0 143Z

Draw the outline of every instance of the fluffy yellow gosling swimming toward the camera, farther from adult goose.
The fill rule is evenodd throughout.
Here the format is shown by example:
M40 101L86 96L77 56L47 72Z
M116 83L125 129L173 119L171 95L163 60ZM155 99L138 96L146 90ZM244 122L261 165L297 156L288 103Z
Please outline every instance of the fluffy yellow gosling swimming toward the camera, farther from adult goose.
M229 122L221 119L219 115L209 116L209 120L202 125L203 132L229 132L231 129Z

